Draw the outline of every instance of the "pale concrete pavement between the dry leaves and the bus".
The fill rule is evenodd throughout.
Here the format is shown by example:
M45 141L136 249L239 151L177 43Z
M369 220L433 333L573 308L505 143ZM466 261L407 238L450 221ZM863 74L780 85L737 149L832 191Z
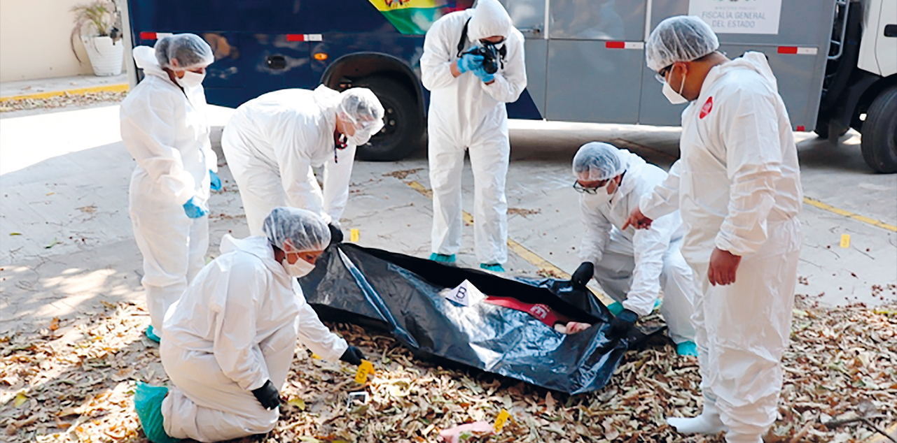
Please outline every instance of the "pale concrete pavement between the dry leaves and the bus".
M217 108L221 126L231 110ZM578 194L570 189L570 160L586 141L610 141L668 167L677 156L678 129L613 124L511 122L508 176L509 234L533 256L512 253L507 268L533 275L550 263L566 272L579 265ZM797 133L806 195L831 208L897 226L897 175L875 175L863 164L858 135L837 146ZM210 206L210 255L222 234L248 233L239 193L223 158L224 192ZM143 302L142 273L127 215L134 161L120 141L118 106L0 116L0 336L45 328L53 317L98 309L100 302ZM464 173L464 207L473 212L473 176ZM360 244L429 255L431 201L423 152L393 163L356 163L346 230ZM897 233L856 218L805 205L805 248L799 294L827 305L894 301ZM841 234L850 235L848 248ZM459 262L476 266L472 226L465 226ZM536 264L534 264L536 263ZM541 263L541 264L540 264ZM874 289L882 287L882 291Z

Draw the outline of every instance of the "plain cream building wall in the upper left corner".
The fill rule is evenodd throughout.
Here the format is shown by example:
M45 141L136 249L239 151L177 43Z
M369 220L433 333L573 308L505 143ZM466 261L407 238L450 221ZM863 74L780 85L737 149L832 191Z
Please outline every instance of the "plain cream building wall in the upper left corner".
M0 0L0 81L93 74L80 38L72 54L69 10L88 0Z

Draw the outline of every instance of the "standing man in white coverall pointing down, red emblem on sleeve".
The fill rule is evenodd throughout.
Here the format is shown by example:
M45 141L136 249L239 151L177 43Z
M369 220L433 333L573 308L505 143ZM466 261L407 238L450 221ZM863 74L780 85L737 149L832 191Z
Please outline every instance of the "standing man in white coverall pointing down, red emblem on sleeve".
M697 17L661 21L645 45L650 69L682 115L682 157L628 222L649 226L675 209L682 253L699 293L701 415L669 418L684 433L727 430L760 443L775 422L801 248L800 170L788 112L766 57L729 60Z

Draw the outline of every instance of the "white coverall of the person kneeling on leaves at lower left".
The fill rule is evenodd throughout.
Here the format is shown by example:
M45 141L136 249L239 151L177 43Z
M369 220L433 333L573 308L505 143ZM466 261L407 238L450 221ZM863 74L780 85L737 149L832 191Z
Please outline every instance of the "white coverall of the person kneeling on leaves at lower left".
M162 365L174 387L162 402L165 433L222 441L274 429L253 389L283 387L296 339L327 361L348 345L305 302L263 236L225 235L209 263L165 316Z

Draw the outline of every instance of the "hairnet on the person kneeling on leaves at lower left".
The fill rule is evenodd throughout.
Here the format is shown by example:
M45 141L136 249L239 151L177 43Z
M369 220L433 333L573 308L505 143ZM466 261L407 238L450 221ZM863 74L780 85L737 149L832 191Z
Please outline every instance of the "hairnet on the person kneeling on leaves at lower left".
M283 249L287 240L297 252L323 251L330 244L324 219L305 209L274 208L262 223L268 242Z

